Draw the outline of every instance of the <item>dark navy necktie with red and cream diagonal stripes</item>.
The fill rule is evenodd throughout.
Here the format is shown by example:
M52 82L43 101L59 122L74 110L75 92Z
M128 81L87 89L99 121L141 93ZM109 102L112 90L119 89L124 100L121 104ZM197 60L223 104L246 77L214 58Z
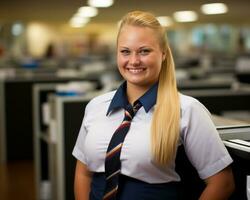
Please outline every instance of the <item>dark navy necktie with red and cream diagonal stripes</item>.
M119 175L121 172L121 148L129 131L131 121L141 106L142 105L139 101L135 102L134 106L131 106L130 104L127 105L124 119L110 140L105 158L106 187L103 200L116 199Z

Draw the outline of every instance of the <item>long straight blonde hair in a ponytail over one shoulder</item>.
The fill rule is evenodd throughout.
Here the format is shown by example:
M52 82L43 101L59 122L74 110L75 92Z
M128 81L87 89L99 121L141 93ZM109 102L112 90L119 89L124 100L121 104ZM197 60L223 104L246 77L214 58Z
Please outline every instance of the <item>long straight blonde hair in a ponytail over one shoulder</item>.
M159 165L169 164L176 155L179 140L180 100L176 86L175 66L165 30L155 16L148 12L133 11L122 18L117 40L125 25L152 28L166 54L159 75L157 101L151 124L151 152Z

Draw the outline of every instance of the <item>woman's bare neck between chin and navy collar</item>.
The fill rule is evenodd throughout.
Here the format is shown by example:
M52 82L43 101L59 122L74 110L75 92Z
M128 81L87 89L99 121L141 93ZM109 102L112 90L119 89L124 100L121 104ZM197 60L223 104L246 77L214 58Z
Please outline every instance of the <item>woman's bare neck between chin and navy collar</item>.
M131 85L127 82L127 97L128 102L133 105L133 103L139 99L149 88L143 86Z

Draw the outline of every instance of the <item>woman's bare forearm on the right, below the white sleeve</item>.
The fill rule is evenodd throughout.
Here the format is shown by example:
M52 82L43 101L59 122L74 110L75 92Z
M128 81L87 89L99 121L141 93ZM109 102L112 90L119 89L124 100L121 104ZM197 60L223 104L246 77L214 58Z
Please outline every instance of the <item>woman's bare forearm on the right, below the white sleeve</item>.
M230 197L235 187L230 167L223 169L205 181L206 188L199 200L226 200Z

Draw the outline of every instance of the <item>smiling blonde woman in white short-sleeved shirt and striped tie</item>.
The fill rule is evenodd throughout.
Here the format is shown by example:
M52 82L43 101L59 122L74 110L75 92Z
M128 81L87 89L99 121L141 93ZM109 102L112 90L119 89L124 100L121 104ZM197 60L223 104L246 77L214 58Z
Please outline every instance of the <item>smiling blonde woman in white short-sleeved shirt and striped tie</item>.
M152 14L124 16L117 63L125 82L94 98L85 110L73 151L78 160L76 199L178 199L181 180L175 157L181 144L206 182L200 199L227 199L234 189L232 159L205 107L178 93L165 32ZM134 108L125 111L123 121L128 105ZM124 127L124 138L110 147ZM114 154L118 156L112 160ZM112 172L114 163L118 168Z

